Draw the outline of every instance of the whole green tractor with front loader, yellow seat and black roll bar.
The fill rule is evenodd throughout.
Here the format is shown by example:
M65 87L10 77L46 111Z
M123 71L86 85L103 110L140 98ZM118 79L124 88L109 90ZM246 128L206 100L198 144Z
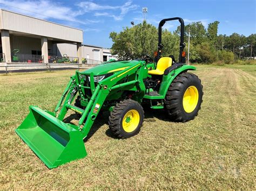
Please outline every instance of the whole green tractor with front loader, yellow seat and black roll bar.
M169 20L181 24L179 60L161 57L161 27ZM111 60L71 76L53 112L30 106L30 113L16 133L49 168L84 158L84 139L100 111L110 111L109 127L118 138L136 135L143 124L142 104L165 109L175 122L186 122L198 114L203 97L199 78L188 73L183 53L184 21L163 19L159 23L156 63L149 55L129 61ZM64 123L68 110L80 115L78 125Z

